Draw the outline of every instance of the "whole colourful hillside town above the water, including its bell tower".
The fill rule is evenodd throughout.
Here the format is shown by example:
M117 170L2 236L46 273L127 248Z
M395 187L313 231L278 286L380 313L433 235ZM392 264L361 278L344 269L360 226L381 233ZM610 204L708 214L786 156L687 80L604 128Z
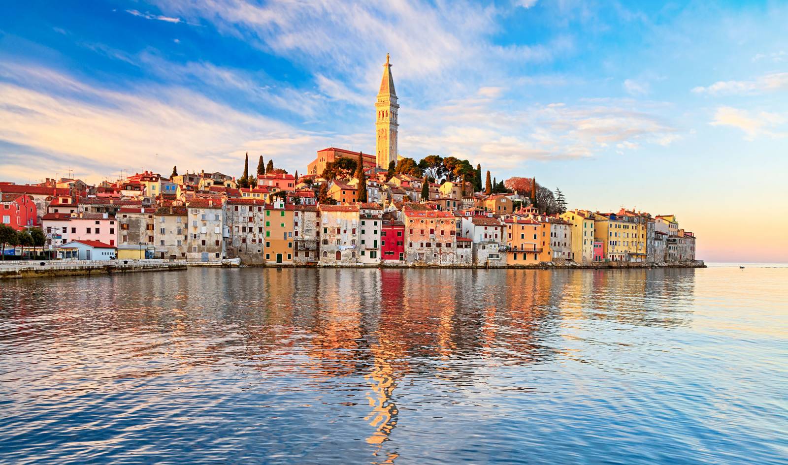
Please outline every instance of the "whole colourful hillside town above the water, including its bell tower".
M567 209L533 176L491 179L456 157L403 157L388 56L374 153L329 147L299 174L263 155L243 174L143 171L0 182L7 260L273 266L697 266L672 214ZM256 162L256 168L255 168ZM251 167L251 169L250 169ZM231 171L228 169L227 171ZM57 178L57 176L55 176Z

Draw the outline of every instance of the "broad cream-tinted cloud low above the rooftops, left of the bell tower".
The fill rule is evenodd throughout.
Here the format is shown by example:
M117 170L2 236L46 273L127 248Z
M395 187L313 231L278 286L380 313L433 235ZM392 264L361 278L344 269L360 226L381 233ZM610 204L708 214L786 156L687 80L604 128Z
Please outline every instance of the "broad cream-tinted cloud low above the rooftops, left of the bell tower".
M22 176L54 175L69 165L93 182L122 168L163 172L173 164L237 174L247 150L294 171L312 160L316 148L352 137L303 131L184 87L121 92L10 64L0 65L0 75L0 179L26 181ZM17 171L19 164L26 164L28 175Z

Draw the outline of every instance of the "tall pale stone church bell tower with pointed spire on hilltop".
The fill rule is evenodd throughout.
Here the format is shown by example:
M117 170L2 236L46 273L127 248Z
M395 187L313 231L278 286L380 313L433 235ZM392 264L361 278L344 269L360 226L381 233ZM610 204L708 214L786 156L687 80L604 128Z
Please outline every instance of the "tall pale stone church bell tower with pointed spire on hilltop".
M397 124L396 113L400 105L396 103L396 92L394 91L394 79L392 78L392 65L388 64L388 54L386 54L386 64L383 65L383 79L381 80L381 91L377 93L375 110L377 120L375 120L375 157L377 167L388 169L388 164L396 162L396 133Z

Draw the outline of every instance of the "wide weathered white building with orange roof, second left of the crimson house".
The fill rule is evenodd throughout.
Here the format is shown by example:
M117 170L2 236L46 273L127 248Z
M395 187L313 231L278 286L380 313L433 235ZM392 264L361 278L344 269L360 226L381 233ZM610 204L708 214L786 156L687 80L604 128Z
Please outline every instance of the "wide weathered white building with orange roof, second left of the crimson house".
M359 264L359 205L320 205L320 264Z

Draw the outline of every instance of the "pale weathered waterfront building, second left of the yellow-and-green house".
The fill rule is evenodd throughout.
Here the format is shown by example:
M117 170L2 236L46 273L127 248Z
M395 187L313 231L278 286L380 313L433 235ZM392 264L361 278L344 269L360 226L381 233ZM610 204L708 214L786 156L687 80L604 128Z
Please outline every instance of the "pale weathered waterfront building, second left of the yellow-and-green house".
M225 221L220 199L195 198L188 202L189 261L225 258ZM227 231L229 238L229 231Z

